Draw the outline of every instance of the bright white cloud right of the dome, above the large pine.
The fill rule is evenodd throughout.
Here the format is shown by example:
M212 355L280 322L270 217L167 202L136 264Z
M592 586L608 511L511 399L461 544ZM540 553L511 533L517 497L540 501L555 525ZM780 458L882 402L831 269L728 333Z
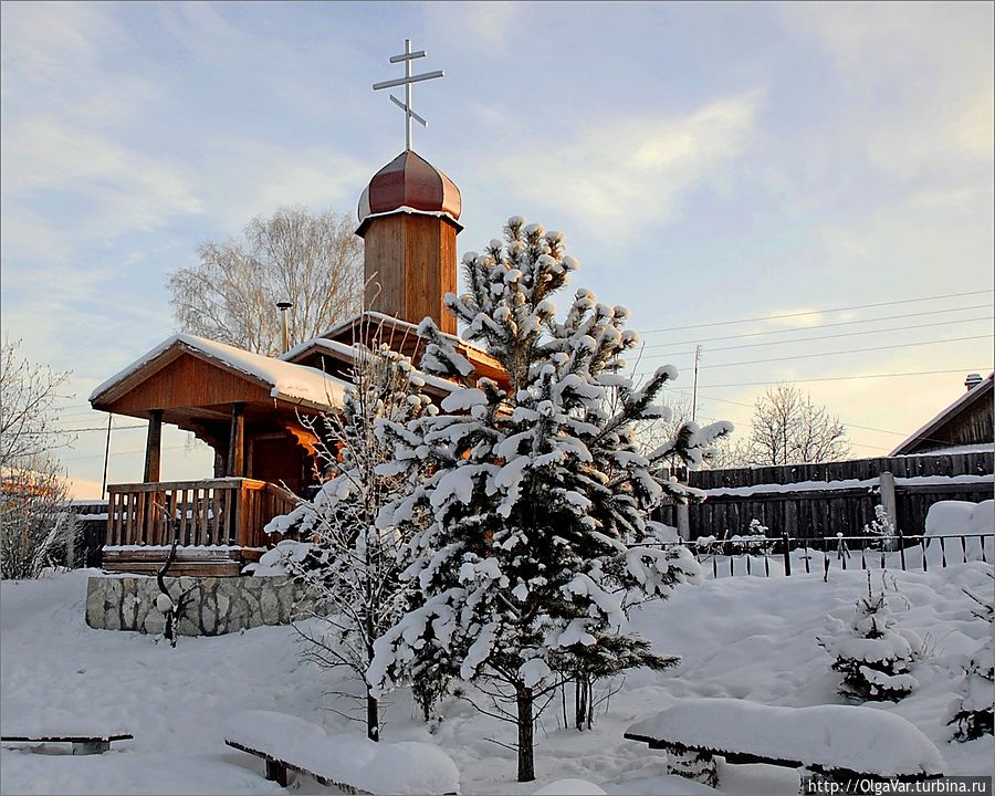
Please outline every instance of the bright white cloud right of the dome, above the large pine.
M492 179L511 182L520 201L593 219L606 233L673 218L682 196L714 178L746 147L758 94L726 97L683 116L630 116L577 126L565 142L532 154L510 144L507 155L481 164ZM535 130L528 130L534 135Z

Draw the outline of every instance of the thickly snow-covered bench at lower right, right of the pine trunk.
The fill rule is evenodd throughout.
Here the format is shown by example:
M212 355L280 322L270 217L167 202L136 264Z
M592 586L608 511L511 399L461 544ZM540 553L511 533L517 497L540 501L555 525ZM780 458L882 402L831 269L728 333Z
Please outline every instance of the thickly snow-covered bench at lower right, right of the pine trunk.
M918 782L943 775L943 758L914 725L858 705L771 708L736 699L678 700L625 733L668 752L669 773L710 787L715 756L803 769L803 779Z

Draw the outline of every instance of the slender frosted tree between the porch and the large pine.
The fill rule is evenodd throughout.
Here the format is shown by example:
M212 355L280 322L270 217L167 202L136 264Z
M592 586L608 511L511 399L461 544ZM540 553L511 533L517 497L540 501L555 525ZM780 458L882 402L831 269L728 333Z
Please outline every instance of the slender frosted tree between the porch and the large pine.
M313 621L295 625L305 654L325 667L345 667L366 690L367 735L379 739L379 703L366 678L373 642L411 607L413 582L398 577L398 552L406 541L394 526L376 526L385 501L402 486L400 476L383 475L392 448L374 433L378 420L405 425L434 410L421 394L423 380L410 360L386 346L356 344L353 389L342 411L313 421L318 454L333 471L314 500L266 525L270 533L293 531L311 543L306 554L290 555L287 573L318 600ZM418 527L417 521L405 531Z

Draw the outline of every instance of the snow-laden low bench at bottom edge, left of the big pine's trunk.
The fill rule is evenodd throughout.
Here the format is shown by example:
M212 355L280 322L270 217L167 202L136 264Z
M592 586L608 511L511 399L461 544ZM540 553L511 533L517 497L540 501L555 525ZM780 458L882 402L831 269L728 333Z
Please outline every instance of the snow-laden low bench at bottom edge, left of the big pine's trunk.
M455 794L459 771L442 750L417 742L375 743L328 735L324 727L271 711L242 711L226 726L224 743L266 764L282 787L290 772L348 794Z

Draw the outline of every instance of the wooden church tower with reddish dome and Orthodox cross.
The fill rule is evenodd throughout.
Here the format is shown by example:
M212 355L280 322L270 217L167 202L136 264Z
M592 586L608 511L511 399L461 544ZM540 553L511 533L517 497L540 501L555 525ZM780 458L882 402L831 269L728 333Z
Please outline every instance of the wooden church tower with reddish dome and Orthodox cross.
M412 52L411 40L405 40L405 52L390 57L390 63L405 64L405 76L374 84L374 90L405 86L405 102L390 96L405 112L405 151L363 191L356 234L364 241L366 308L412 324L429 316L440 329L455 334L455 318L442 297L457 290L460 189L411 148L411 122L428 126L411 107L411 86L443 76L411 74L411 62L425 54Z

